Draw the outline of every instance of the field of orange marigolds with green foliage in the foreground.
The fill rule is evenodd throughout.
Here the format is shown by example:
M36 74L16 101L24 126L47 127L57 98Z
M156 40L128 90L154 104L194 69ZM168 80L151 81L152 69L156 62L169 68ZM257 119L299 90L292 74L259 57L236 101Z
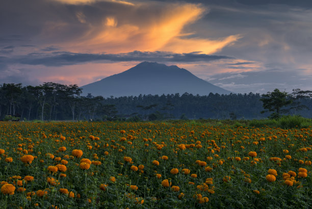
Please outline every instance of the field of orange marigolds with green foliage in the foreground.
M1 208L312 208L312 129L0 122Z

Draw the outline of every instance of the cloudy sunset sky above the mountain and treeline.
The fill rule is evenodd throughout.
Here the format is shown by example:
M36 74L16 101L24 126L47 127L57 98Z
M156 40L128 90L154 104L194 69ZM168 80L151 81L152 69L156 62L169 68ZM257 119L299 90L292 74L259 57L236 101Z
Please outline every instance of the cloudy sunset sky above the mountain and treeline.
M0 1L0 84L86 85L140 62L237 93L312 90L310 0Z

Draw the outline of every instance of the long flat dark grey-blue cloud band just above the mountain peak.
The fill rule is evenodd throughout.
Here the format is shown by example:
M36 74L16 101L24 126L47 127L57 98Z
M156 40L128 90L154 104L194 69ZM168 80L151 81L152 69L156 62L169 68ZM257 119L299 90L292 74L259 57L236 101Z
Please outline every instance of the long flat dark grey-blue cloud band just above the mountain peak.
M200 53L168 53L134 51L119 54L86 54L54 52L50 54L32 53L13 59L6 58L5 62L16 62L29 65L63 66L87 62L125 62L125 61L158 61L158 62L210 62L220 59L234 59L222 55L206 55Z

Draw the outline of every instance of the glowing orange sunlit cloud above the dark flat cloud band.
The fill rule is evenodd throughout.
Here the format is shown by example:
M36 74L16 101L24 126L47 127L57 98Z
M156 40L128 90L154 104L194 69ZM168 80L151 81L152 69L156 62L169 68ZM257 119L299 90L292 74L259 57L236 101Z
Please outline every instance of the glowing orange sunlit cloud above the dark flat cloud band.
M120 1L113 2L120 3ZM158 13L140 17L140 11L146 11L150 9L149 7L152 6L142 3L135 5L134 9L125 14L122 9L114 11L113 15L101 17L100 25L86 21L88 18L86 14L79 12L76 18L81 23L87 24L88 29L79 39L68 40L64 43L64 47L66 46L66 49L72 52L92 53L126 53L138 50L175 53L197 51L212 54L240 38L240 35L217 40L187 37L193 32L184 31L185 26L200 19L208 11L202 5L186 3L165 4L161 7L158 5Z

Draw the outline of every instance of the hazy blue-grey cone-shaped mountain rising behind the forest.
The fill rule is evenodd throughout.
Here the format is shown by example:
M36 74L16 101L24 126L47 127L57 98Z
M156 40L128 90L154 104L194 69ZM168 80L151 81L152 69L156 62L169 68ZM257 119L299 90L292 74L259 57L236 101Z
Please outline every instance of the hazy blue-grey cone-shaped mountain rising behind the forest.
M188 92L193 95L230 94L230 91L204 81L184 68L167 66L157 62L142 62L119 74L82 86L83 96L105 98L114 96L180 95Z

